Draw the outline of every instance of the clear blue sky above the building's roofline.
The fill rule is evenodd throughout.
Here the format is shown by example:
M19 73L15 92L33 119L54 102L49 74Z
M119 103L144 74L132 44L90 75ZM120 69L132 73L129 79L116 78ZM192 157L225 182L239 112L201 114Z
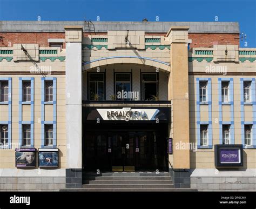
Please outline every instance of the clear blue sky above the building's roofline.
M0 0L1 21L214 21L239 22L256 48L255 0ZM244 43L241 43L241 47Z

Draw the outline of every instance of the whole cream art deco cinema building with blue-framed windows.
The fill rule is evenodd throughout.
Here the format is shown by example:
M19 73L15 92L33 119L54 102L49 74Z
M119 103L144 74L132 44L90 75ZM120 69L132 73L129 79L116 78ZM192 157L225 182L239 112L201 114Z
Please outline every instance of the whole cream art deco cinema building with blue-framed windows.
M255 190L256 49L240 36L1 21L0 190Z

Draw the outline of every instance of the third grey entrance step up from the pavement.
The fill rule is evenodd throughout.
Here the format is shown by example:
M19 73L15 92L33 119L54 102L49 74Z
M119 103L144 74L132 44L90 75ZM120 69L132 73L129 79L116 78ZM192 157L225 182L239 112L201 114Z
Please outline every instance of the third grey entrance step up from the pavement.
M172 184L171 180L95 180L84 184Z

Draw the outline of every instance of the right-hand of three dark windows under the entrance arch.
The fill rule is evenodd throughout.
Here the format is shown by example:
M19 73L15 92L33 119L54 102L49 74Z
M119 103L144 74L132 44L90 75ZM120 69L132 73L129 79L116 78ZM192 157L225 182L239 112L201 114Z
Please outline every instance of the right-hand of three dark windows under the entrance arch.
M157 73L142 73L142 99L159 100Z

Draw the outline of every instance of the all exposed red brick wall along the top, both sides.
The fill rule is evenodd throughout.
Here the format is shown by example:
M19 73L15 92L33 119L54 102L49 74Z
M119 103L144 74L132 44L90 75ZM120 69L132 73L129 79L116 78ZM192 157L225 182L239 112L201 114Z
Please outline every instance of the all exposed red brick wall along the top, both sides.
M107 33L86 33L87 35L107 35ZM166 35L166 33L145 33L145 35ZM13 44L39 44L39 46L49 46L48 38L65 38L63 32L1 32L0 46L12 46ZM188 38L192 39L190 48L212 47L213 44L235 44L239 45L239 33L188 33ZM9 45L10 43L10 45ZM65 44L63 46L65 48Z

